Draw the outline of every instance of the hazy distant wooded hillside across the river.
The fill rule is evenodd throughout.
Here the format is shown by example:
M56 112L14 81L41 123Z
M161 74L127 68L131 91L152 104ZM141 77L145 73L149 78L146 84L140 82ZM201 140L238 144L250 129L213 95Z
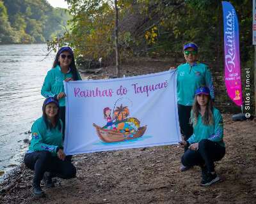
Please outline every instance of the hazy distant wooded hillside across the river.
M65 32L71 18L46 0L0 0L0 43L44 43Z

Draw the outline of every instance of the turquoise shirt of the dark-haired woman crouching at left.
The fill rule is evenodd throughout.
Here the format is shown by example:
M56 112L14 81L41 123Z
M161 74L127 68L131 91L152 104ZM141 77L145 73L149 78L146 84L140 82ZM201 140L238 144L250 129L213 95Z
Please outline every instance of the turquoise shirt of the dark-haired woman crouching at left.
M60 122L61 127L63 127L61 120ZM57 147L63 147L62 138L62 129L59 130L58 126L47 129L44 118L40 117L33 123L31 128L31 142L28 153L47 150L52 153L52 156L57 156Z

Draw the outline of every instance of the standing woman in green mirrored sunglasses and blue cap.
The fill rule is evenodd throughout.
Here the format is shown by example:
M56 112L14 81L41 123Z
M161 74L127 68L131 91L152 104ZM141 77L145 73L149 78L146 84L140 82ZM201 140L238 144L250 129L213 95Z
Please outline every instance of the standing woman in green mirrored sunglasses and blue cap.
M187 43L183 47L186 63L177 68L177 101L180 132L184 140L193 134L193 127L189 124L190 112L198 87L206 85L210 88L211 99L214 99L212 75L207 65L198 62L198 47L195 43ZM186 151L187 148L185 147ZM191 166L181 166L186 171Z

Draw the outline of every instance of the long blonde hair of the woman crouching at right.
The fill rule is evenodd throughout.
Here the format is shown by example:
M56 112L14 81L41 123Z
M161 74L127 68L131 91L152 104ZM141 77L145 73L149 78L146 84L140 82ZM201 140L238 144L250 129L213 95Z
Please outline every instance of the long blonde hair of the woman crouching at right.
M206 105L206 109L205 109L205 113L204 116L202 117L202 121L205 125L210 125L213 124L213 103L211 100L211 96L208 96L208 101L207 101L207 105ZM200 105L197 102L197 96L195 96L194 99L194 103L192 106L192 113L191 113L191 117L189 119L190 124L193 124L193 126L195 127L197 122L198 122L198 115L200 112Z

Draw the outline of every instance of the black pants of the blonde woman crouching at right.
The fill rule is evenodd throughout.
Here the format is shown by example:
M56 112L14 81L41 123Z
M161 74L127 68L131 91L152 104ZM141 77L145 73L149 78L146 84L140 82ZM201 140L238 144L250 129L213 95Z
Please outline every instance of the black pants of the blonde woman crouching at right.
M225 155L225 147L211 140L201 140L198 150L188 149L181 158L184 166L206 166L209 172L214 171L214 161L220 161Z

